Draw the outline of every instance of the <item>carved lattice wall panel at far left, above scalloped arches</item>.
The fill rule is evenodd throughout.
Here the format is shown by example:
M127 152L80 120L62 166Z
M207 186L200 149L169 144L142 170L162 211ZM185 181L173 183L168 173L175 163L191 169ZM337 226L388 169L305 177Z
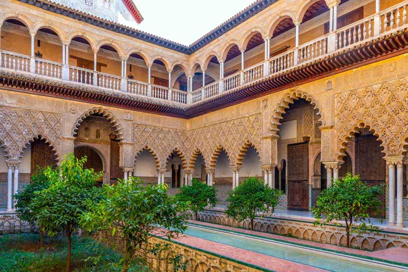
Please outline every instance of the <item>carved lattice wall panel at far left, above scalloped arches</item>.
M18 160L22 149L34 138L49 142L57 152L61 145L61 114L0 106L0 139L7 157Z

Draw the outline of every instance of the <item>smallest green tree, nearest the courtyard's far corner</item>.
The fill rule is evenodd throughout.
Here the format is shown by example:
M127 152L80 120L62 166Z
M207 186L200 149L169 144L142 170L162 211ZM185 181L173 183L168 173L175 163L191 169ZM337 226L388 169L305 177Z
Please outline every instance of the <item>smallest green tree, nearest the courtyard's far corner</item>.
M208 186L201 180L193 179L191 184L183 186L175 197L180 201L190 202L190 210L194 212L195 220L197 220L198 212L202 212L206 206L213 208L217 204L215 192L213 186Z

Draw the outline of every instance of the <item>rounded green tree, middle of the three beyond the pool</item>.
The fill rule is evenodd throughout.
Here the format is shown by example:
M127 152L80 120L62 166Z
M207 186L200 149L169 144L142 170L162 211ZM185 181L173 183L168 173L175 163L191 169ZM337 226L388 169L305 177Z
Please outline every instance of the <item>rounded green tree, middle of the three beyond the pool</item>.
M254 230L253 220L257 214L273 212L281 195L278 189L269 188L262 180L250 177L229 192L225 214L237 221L250 219L251 230Z

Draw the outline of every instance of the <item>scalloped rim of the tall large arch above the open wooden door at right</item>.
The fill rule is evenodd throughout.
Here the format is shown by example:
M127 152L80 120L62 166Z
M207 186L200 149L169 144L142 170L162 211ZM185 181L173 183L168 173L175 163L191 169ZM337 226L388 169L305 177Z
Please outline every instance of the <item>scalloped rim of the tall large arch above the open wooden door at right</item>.
M294 100L298 100L299 98L303 98L315 106L315 109L318 110L317 115L320 115L319 122L322 122L322 126L325 125L322 108L318 105L317 101L306 92L292 90L284 95L284 97L276 105L275 110L272 112L270 126L271 135L277 136L277 132L279 131L278 126L280 125L279 120L283 119L282 114L286 112L286 108L289 108L289 104L293 104Z

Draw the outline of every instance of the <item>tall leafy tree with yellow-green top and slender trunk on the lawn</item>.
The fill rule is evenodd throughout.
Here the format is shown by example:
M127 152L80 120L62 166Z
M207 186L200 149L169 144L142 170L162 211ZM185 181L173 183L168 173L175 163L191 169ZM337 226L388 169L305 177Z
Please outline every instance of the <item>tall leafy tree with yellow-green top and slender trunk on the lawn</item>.
M31 204L38 210L37 222L54 236L64 232L68 239L67 269L71 266L71 234L79 227L79 221L87 212L90 200L98 201L100 188L95 187L102 172L84 169L86 157L76 159L73 154L64 157L61 166L56 169L47 168L45 175L50 186L40 192Z

